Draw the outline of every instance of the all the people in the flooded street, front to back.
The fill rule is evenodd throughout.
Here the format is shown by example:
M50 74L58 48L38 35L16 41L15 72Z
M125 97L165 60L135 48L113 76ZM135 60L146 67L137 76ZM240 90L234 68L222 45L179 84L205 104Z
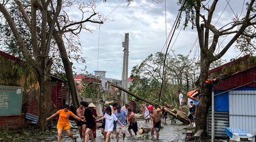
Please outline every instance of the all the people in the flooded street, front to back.
M183 112L183 95L178 91L179 94L179 106L180 111ZM61 141L61 134L62 130L64 129L68 136L73 140L76 139L72 136L70 131L70 123L69 118L72 116L77 120L77 127L79 130L79 134L81 139L84 141L88 141L90 138L92 141L95 141L96 138L96 128L97 122L102 121L101 126L101 133L104 135L105 141L110 141L111 134L116 136L116 141L119 139L120 133L122 133L122 139L125 139L126 133L126 125L128 125L128 132L133 136L136 136L138 132L138 124L136 122L135 114L132 112L131 107L129 107L129 103L125 103L123 107L120 104L114 102L113 104L104 104L102 113L103 115L99 115L99 119L97 120L96 117L97 111L95 109L94 104L88 104L88 102L81 102L80 106L76 109L76 114L72 113L72 111L68 110L68 105L64 106L64 109L57 111L56 113L52 114L46 120L50 120L54 116L58 116L58 141ZM168 104L164 102L163 107L153 107L152 105L145 104L143 113L145 116L146 122L151 123L151 136L152 139L154 138L154 132L156 132L156 139L159 139L159 131L161 129L161 120L162 123L166 123L167 112L164 111L164 107L168 107ZM193 100L189 100L189 119L191 122L193 121L193 116L195 114L195 104Z

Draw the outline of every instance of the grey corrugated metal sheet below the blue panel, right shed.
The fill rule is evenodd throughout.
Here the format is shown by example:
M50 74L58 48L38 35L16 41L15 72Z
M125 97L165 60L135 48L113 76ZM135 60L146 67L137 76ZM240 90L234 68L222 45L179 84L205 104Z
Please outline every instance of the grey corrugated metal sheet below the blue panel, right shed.
M212 130L212 117L211 111L208 111L207 114L207 134L211 137ZM225 127L228 127L228 113L227 112L214 112L214 136L215 138L227 138L227 134L225 132Z

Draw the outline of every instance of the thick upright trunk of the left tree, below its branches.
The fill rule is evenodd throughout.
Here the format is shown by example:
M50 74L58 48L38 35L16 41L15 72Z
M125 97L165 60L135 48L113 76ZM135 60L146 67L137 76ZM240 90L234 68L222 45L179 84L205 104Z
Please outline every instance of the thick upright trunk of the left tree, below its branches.
M40 61L42 64L45 62L47 61ZM45 130L51 127L51 123L46 122L46 118L52 115L54 108L51 99L51 65L40 65L39 68L36 68L36 76L40 86L38 126Z

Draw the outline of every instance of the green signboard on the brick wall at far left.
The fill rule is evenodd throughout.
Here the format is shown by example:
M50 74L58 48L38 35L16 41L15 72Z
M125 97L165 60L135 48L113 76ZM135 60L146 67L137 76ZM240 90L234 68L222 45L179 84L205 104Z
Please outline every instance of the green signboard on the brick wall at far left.
M22 88L0 85L0 116L21 114Z

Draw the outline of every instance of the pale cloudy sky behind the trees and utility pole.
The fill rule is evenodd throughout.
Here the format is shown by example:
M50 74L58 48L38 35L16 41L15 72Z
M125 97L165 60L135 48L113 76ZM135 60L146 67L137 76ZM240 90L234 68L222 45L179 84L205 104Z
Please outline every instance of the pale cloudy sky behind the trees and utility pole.
M108 19L111 20L104 22L100 29L99 24L90 24L88 26L93 29L93 32L83 31L81 33L81 45L83 47L83 56L86 57L86 64L74 63L77 68L76 72L84 73L79 72L79 70L86 66L86 70L90 73L93 73L94 70L104 70L106 71L106 77L121 79L123 63L122 41L124 41L125 33L129 33L129 74L132 67L140 64L149 54L161 51L166 40L166 32L167 34L170 32L180 7L176 1L166 0L165 12L164 0L162 1L163 3L156 4L152 3L152 0L134 0L129 6L125 1L121 3L122 0L108 0L107 3L96 1L96 11L104 16L108 15ZM214 14L214 22L219 19L225 6L227 6L227 1L219 1ZM116 8L118 4L120 5ZM232 0L230 6L234 13L239 15L242 12L242 4L243 1L241 0ZM227 23L227 20L230 21L234 17L230 6L227 6L222 13L216 26L223 26ZM165 13L167 22L165 22ZM73 16L76 16L75 12ZM175 51L175 54L186 56L192 49L189 56L191 58L198 56L198 46L193 46L197 37L196 29L191 29L190 25L186 30L182 29L180 31L180 28L176 30L173 37L173 41L176 37L177 40L172 50ZM177 36L178 33L179 36ZM228 38L225 41L227 40ZM234 49L230 49L223 58L229 60L230 58L235 58L237 54Z

